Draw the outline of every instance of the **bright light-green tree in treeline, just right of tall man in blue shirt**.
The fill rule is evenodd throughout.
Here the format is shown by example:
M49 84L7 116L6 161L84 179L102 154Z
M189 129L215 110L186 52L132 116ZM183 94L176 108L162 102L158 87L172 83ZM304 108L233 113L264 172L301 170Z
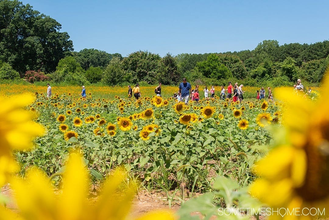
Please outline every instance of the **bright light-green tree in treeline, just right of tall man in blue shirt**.
M207 60L198 62L196 68L207 78L227 79L233 76L232 72L220 62L216 54L211 54Z

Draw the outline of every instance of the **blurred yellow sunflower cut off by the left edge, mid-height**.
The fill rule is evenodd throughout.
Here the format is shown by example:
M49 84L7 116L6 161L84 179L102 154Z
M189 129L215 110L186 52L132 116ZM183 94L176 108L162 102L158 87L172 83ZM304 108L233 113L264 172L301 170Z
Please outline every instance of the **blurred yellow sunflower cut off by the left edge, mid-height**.
M43 127L32 121L33 113L24 109L34 100L32 94L0 97L0 187L16 170L12 150L31 148L33 138L44 133Z

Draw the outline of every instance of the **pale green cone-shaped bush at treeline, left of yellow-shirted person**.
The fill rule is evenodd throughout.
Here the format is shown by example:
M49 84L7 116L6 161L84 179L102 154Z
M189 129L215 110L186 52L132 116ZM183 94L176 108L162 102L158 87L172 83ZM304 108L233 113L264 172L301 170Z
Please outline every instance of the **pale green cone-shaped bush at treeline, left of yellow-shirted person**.
M114 57L104 70L102 82L109 86L121 84L129 80L129 74L123 69L119 58Z

